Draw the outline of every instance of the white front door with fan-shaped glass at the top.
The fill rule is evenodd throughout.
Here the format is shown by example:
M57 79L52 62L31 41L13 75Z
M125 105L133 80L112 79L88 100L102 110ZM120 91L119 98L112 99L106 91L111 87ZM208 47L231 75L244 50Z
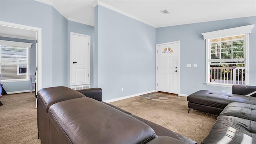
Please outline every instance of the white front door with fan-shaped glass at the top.
M180 42L157 44L157 90L178 94L178 56Z

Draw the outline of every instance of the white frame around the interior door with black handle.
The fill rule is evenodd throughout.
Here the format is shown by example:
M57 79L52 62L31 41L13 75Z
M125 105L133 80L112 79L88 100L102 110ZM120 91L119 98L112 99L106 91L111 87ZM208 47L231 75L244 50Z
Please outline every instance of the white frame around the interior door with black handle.
M72 42L72 34L75 34L75 35L78 35L78 36L85 36L85 37L88 37L89 38L89 45L88 45L88 47L89 47L89 74L90 74L90 78L89 78L89 83L87 84L85 84L85 85L90 85L91 84L91 36L88 36L88 35L85 35L85 34L79 34L79 33L76 33L76 32L70 32L70 73L69 73L69 85L70 86L76 86L76 85L82 85L82 84L72 84L72 62L73 62L73 60L72 60L72 44L73 44L73 42Z

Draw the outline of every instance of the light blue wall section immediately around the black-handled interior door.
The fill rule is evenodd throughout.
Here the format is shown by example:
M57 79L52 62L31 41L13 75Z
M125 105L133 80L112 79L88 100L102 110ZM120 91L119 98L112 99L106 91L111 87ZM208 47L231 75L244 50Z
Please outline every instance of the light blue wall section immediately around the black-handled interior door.
M92 88L94 86L94 81L93 81L93 77L94 77L94 72L93 72L93 42L94 42L94 26L88 26L86 24L81 24L78 22L73 22L68 20L68 50L67 50L67 67L68 67L68 85L70 84L70 32L75 32L78 34L85 34L90 36L91 38L91 67L90 67L90 73L91 73L91 84L90 84L90 88ZM69 85L70 86L70 85Z

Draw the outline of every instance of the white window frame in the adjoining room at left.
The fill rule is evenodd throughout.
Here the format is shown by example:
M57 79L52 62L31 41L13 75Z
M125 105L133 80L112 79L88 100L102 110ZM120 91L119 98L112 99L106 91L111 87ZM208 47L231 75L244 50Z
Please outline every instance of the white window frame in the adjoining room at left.
M27 73L26 73L26 79L11 79L11 80L1 80L1 82L21 82L21 81L28 81L29 80L29 60L30 60L30 48L32 43L27 42L15 42L15 41L7 41L7 40L0 40L0 45L6 45L6 46L20 46L20 47L26 47L27 50ZM0 63L2 58L2 52L0 52ZM1 68L1 65L0 65ZM18 74L17 72L17 75Z

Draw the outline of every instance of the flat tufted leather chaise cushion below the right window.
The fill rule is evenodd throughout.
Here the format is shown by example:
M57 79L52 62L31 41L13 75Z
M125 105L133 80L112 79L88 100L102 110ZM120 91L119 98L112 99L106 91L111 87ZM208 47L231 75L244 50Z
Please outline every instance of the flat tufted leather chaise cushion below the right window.
M199 90L187 97L188 102L213 106L216 108L225 108L230 102L242 102L247 104L256 104L256 98L231 94L228 92L218 92L212 90Z

